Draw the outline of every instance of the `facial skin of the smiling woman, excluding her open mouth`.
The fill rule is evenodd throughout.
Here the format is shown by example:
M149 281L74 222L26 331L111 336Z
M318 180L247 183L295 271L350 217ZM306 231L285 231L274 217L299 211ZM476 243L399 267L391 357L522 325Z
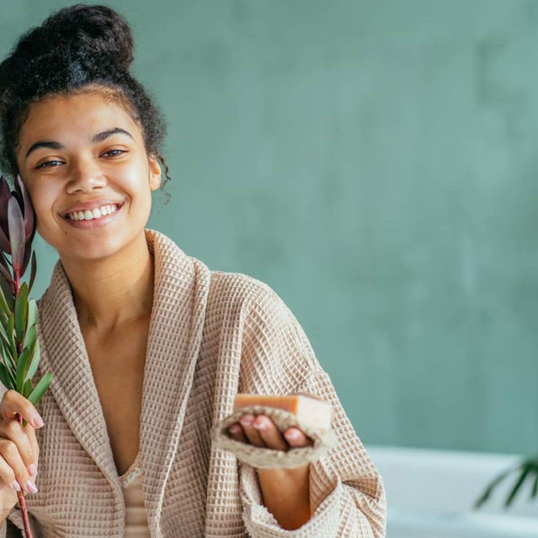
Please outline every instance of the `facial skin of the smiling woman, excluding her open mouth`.
M115 129L126 133L111 132ZM104 258L143 233L161 171L157 160L148 158L138 125L120 105L98 94L33 104L16 151L37 231L60 257ZM103 217L109 222L101 226L77 228L67 221L75 204L94 200L123 205Z

